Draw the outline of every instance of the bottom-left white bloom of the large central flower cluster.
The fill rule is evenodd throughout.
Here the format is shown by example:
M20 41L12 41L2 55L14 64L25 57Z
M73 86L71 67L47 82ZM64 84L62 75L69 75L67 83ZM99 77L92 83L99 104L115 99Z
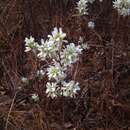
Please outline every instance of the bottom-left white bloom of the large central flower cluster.
M46 84L47 96L52 97L52 98L57 97L57 92L56 92L57 87L58 87L58 85L56 83L47 82L47 84Z

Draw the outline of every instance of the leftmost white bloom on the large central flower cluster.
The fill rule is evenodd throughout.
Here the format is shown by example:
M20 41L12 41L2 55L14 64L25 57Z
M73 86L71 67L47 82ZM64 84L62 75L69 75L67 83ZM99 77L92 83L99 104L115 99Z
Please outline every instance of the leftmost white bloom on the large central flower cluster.
M36 51L38 47L38 43L35 42L34 38L30 36L29 38L25 38L25 52L29 52L33 50L34 52Z

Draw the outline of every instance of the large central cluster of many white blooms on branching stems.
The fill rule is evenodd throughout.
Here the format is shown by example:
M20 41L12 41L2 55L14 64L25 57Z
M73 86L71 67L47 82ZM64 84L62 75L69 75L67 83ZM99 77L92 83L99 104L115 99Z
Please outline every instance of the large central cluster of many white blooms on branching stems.
M41 40L38 44L33 37L25 39L26 51L36 50L36 56L39 60L49 60L48 67L37 71L37 76L48 76L46 83L46 93L51 98L58 96L75 97L80 90L79 83L73 80L67 80L67 69L78 61L79 55L82 54L84 45L75 45L69 43L66 33L61 28L54 28L47 40ZM66 81L67 80L67 81Z

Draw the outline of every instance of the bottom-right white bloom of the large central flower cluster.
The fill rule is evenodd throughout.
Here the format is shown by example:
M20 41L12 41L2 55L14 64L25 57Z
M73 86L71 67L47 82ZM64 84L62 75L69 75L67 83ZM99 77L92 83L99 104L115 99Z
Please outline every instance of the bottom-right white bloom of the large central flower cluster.
M73 80L70 82L63 82L62 85L62 93L65 97L75 97L77 91L80 90L79 83L75 83Z

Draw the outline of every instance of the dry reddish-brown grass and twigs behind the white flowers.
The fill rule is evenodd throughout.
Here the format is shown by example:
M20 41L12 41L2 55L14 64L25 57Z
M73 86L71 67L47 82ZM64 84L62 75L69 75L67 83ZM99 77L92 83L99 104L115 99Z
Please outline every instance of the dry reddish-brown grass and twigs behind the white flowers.
M0 0L0 130L128 130L130 17L119 16L112 0L96 1L81 18L75 7L75 0ZM87 27L90 20L95 30ZM24 38L39 40L55 26L69 41L82 36L90 46L70 70L81 84L76 99L47 98L45 79L19 89L20 78L37 68L24 53ZM30 98L34 92L38 103Z

